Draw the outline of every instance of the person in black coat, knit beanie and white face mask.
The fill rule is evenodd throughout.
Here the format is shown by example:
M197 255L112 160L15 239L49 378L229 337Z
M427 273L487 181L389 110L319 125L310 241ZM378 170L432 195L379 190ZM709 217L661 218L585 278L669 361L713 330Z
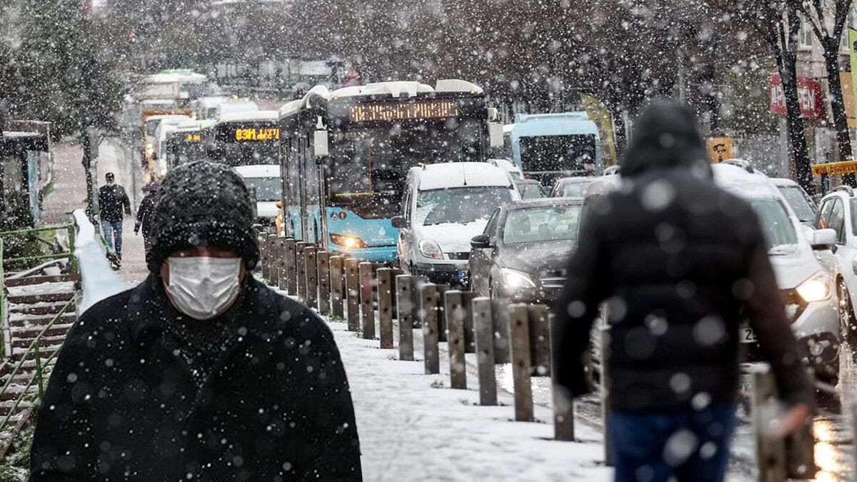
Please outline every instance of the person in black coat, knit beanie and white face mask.
M31 480L362 479L333 333L252 277L253 222L229 167L201 161L166 175L151 273L69 331Z

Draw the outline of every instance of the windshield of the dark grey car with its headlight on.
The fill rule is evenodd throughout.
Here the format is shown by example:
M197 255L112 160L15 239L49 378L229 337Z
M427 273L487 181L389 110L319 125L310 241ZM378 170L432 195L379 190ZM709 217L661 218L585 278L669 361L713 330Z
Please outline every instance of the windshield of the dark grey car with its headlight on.
M580 208L573 204L511 210L503 226L503 243L577 241Z

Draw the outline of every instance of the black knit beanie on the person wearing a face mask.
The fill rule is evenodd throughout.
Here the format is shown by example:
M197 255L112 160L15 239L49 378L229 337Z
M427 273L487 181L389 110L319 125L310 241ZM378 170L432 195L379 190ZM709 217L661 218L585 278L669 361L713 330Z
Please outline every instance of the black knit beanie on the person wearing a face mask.
M159 273L178 250L196 247L231 250L248 269L259 261L254 209L241 176L208 161L183 164L167 173L152 216L149 271Z

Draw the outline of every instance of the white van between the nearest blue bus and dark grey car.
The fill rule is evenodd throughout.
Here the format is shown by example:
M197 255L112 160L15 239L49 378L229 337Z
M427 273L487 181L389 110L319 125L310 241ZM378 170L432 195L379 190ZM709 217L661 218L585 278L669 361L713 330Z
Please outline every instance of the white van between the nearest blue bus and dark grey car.
M470 238L484 231L504 202L520 199L505 169L487 162L411 168L405 178L399 228L399 264L434 283L463 285Z

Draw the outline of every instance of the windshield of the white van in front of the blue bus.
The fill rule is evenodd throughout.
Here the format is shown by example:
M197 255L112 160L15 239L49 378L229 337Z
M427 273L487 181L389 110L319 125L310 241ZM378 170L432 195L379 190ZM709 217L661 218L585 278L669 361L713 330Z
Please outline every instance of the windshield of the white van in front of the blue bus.
M423 226L465 224L487 220L497 206L510 201L512 190L504 187L423 190L417 198L414 218Z

